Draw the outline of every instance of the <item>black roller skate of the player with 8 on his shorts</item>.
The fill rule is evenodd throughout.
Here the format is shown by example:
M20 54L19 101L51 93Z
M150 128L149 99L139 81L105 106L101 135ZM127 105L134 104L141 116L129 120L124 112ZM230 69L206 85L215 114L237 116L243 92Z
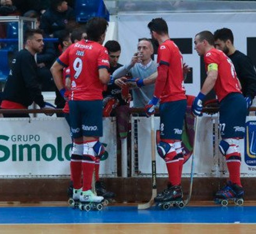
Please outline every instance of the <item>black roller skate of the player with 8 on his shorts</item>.
M163 192L157 194L155 197L155 203L157 206L168 210L171 205L178 206L179 208L184 207L183 194L180 185L172 186L171 184L167 185L167 189L164 189Z

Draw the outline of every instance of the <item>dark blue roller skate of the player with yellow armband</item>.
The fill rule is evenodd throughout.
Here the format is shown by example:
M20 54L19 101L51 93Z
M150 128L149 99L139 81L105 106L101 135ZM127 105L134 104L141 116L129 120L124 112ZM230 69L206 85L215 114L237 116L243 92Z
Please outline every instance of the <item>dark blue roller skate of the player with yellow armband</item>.
M242 206L244 203L244 189L230 181L215 194L215 203L227 206L229 201L233 201L235 205Z

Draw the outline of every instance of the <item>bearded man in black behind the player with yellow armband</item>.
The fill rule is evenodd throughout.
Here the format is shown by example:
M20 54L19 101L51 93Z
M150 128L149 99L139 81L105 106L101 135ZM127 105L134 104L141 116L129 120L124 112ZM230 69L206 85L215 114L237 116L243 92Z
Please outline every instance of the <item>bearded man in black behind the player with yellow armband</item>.
M256 95L256 70L252 60L234 47L234 36L230 29L222 28L214 32L216 49L222 50L233 62L247 108Z

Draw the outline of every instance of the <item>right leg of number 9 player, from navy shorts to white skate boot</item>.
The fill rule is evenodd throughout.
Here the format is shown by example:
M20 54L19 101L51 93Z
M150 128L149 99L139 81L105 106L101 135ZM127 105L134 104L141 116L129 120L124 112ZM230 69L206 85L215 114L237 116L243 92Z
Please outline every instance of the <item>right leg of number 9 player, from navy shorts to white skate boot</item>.
M81 101L79 103L83 131L83 192L81 202L101 202L104 198L92 192L92 177L95 161L104 153L99 142L102 136L102 101Z

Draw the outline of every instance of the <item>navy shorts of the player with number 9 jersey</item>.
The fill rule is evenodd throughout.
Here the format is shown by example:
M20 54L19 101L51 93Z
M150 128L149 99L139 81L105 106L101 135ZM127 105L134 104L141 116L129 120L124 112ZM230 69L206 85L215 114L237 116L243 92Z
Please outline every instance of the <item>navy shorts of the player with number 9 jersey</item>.
M102 100L69 101L73 138L102 137Z

